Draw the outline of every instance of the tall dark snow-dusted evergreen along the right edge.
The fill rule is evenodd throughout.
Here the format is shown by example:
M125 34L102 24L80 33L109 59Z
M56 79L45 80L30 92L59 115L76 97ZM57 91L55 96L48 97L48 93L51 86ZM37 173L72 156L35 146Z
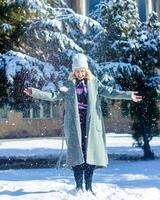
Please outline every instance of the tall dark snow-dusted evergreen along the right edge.
M149 143L152 136L159 132L157 124L159 111L156 106L158 102L156 88L160 84L160 76L156 74L156 68L160 66L159 38L160 23L156 13L152 13L146 23L140 24L131 31L128 39L119 40L114 46L120 55L120 60L139 65L145 74L145 82L137 83L137 90L144 96L143 102L133 106L136 112L132 112L132 117L135 119L134 138L138 140L138 143L142 143L146 134L148 141L146 137L145 140ZM146 132L144 136L142 130Z

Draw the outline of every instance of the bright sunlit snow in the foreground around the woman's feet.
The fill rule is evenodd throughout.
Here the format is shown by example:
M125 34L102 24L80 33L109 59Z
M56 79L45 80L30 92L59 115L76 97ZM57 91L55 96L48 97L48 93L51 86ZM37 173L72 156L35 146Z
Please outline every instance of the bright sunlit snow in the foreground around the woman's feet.
M39 173L43 173L43 171L39 171ZM48 174L51 175L51 172ZM53 175L51 175L51 177L53 177ZM1 187L0 200L2 200L2 198L3 200L22 200L24 197L26 200L152 200L153 194L155 200L158 200L160 197L157 188L123 189L114 184L103 183L95 184L95 189L97 191L96 196L88 192L76 193L73 189L73 185L63 179L63 177L59 178L61 179L59 181L52 180L51 178L51 180L48 181L30 180L28 183L24 181L2 181L4 186ZM3 191L4 188L6 191Z

